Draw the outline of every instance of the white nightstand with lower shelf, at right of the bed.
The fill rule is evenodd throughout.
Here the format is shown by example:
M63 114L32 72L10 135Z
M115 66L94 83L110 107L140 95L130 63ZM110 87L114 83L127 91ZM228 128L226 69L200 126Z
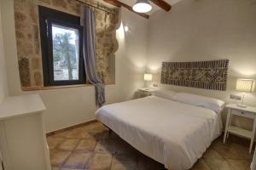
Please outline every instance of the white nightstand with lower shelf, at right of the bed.
M249 153L251 153L253 148L253 141L254 141L254 135L255 135L255 129L256 129L256 107L247 106L246 108L242 108L237 106L236 104L228 104L225 105L225 107L228 109L228 116L226 121L226 127L225 127L225 133L224 133L224 143L226 141L226 138L229 136L229 133L236 134L238 136L251 139L250 144L250 150ZM235 127L232 126L232 116L243 116L250 119L253 119L253 130L246 130L242 129L241 127Z

